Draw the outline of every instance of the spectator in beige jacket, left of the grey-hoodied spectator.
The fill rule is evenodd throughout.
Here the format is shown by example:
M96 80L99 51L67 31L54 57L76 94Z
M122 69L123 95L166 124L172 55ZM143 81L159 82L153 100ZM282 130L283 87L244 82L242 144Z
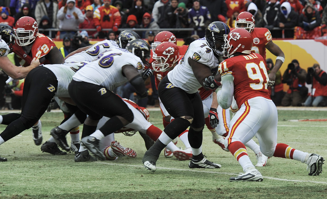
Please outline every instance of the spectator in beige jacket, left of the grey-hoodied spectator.
M35 19L38 24L41 22L43 16L49 18L49 23L53 28L59 27L59 20L57 19L58 3L54 0L40 0L36 4Z

